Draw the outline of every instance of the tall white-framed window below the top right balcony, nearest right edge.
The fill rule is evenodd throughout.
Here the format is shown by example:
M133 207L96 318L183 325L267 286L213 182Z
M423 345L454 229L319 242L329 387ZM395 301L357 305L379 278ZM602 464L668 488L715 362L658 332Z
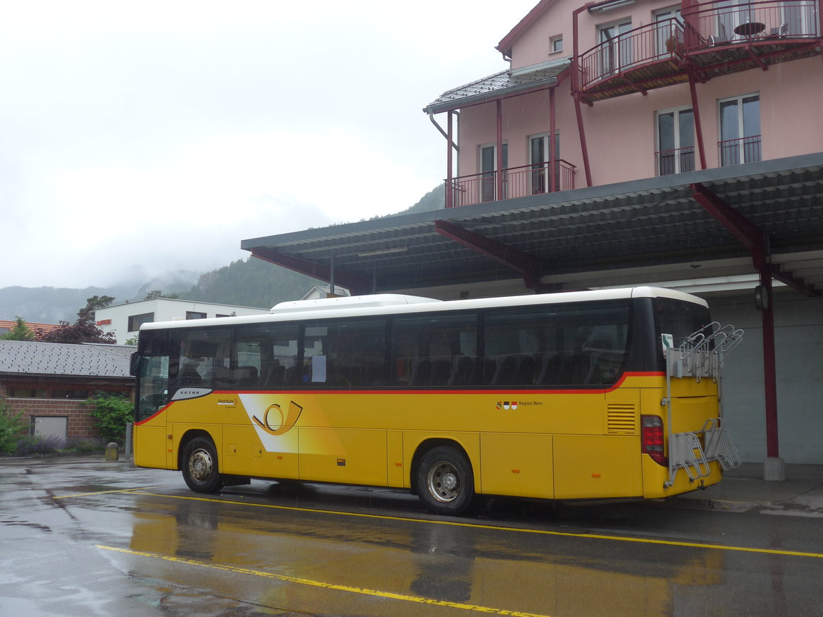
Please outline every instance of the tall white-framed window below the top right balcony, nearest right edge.
M754 163L760 158L760 95L720 101L720 165Z

